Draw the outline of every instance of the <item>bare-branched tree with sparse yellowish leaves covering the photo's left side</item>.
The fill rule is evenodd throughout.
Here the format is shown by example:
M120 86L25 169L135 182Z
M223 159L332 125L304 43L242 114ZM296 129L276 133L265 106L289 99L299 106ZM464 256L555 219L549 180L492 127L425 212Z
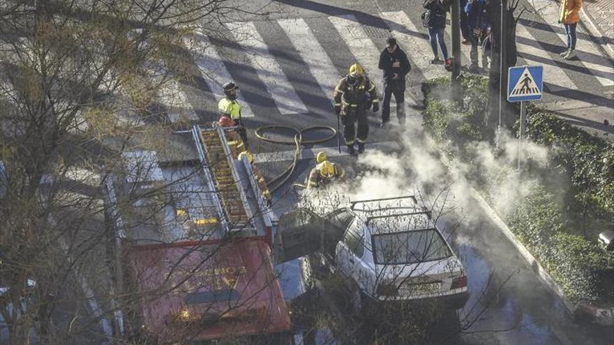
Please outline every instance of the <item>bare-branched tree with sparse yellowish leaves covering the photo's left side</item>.
M176 48L197 27L216 35L231 15L249 14L232 3L0 1L0 315L9 344L98 343L114 332L116 268L100 258L117 234L100 176L125 176L126 151L172 146L158 95L189 78Z

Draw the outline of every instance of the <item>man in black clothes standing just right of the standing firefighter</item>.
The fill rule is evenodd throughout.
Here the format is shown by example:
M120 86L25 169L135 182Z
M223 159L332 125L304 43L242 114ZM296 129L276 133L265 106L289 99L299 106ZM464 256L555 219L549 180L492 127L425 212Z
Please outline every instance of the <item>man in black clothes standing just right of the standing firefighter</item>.
M384 72L384 104L382 105L382 125L390 121L390 99L394 95L396 118L400 125L405 124L405 75L412 70L407 54L400 49L396 39L386 40L386 48L380 54L380 70Z

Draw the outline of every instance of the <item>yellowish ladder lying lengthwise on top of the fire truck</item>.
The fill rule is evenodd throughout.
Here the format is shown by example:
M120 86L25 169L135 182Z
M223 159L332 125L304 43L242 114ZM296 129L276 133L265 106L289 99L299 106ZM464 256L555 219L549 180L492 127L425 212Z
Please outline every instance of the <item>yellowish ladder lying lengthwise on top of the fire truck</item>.
M244 229L252 227L251 212L248 199L241 186L239 174L234 166L234 158L226 141L223 128L216 126L214 130L201 130L195 125L200 143L207 157L207 166L211 171L218 191L218 202L223 213L227 215L228 229Z

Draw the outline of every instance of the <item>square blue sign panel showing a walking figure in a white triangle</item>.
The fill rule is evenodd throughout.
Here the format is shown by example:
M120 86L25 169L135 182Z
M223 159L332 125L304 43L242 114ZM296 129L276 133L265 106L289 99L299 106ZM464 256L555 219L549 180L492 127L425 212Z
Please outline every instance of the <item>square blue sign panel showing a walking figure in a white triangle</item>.
M507 100L541 100L544 66L517 66L507 70Z

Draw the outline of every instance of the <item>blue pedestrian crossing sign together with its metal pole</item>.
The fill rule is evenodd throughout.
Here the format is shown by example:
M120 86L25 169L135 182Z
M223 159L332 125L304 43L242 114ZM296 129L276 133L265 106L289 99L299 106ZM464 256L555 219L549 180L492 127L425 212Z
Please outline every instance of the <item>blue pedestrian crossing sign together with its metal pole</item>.
M543 90L544 66L518 66L507 70L507 101L521 102L521 119L518 126L518 171L521 169L523 151L525 101L541 100Z

